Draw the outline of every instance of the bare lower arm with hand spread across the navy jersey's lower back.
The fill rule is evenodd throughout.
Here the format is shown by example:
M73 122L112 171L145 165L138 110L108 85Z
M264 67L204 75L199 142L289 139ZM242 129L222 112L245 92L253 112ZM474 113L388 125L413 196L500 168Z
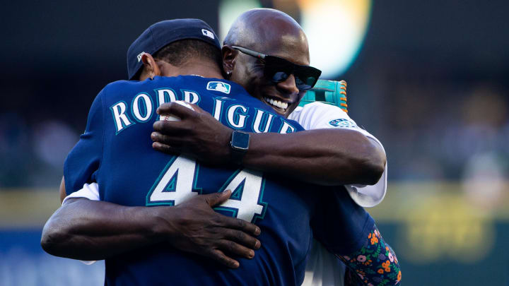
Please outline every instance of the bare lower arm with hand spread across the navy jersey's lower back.
M65 193L65 186L61 186L60 193ZM68 198L47 221L41 245L55 256L101 260L167 242L237 268L238 261L229 256L254 257L253 249L261 244L252 236L260 230L244 220L213 211L211 207L226 201L230 194L199 195L177 206L151 208Z

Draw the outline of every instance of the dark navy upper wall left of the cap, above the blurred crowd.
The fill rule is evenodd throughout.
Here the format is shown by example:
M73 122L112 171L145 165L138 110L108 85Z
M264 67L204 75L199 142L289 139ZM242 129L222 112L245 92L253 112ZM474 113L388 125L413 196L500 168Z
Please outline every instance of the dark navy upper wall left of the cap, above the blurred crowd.
M62 118L83 129L93 97L127 78L129 44L149 25L201 18L217 28L218 1L10 1L0 17L0 113ZM11 95L11 96L7 96Z

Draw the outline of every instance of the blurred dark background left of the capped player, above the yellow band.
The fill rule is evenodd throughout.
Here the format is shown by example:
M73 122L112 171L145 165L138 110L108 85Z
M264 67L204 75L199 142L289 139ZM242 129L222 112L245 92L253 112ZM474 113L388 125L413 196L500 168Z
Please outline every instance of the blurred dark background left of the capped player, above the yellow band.
M0 9L0 188L58 186L64 153L95 95L127 78L129 44L149 25L201 18L218 1L4 1Z

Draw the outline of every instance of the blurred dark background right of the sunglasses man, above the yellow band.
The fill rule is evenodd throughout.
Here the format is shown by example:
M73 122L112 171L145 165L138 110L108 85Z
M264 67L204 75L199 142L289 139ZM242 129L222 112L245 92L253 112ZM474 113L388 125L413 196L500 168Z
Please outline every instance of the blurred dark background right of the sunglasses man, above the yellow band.
M390 179L462 179L476 155L509 177L509 1L373 1L345 78L350 116Z

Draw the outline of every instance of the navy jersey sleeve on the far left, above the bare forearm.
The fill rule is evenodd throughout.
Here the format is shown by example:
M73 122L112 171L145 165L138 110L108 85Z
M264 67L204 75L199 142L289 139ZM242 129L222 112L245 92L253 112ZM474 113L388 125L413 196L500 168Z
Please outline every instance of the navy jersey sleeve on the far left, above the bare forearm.
M67 195L83 188L83 184L95 181L103 156L104 137L103 91L90 107L86 130L64 162Z

